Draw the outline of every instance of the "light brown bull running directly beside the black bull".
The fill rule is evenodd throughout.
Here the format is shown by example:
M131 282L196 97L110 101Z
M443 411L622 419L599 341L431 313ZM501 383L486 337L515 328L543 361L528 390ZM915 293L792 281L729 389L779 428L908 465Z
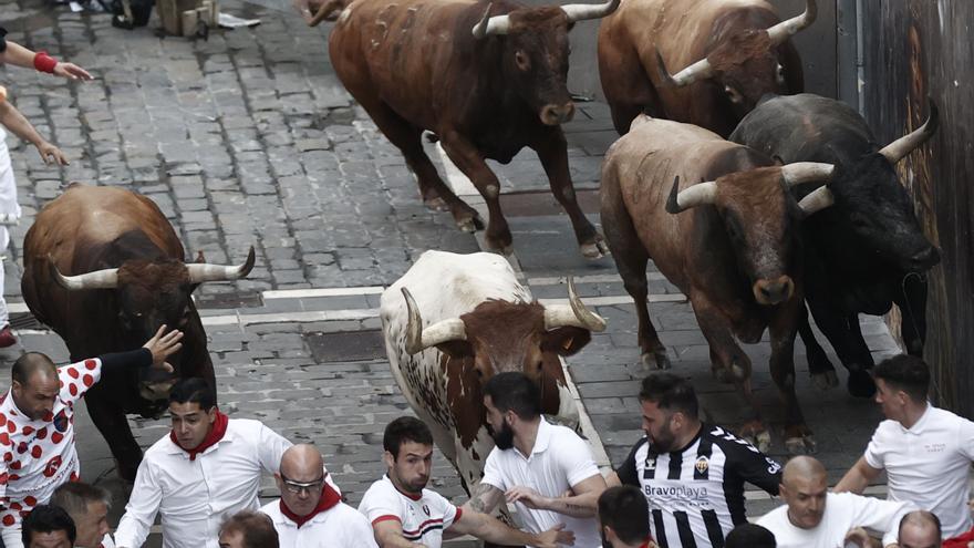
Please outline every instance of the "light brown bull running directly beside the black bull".
M788 187L825 182L831 172L829 164L776 166L701 127L647 116L612 145L602 168L602 226L635 301L643 362L670 366L646 310L652 259L690 299L714 373L735 383L754 410L742 434L763 451L770 436L754 404L750 360L735 339L756 343L770 331L786 444L794 452L811 446L795 395L792 348L805 311L796 224L823 207L827 188L796 205Z

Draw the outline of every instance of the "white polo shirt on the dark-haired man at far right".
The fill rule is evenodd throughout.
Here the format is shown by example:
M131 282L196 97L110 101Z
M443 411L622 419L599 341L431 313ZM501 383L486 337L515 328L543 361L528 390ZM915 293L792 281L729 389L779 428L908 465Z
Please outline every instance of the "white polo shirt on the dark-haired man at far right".
M972 459L974 423L933 405L911 428L881 422L866 448L867 464L887 471L889 499L936 514L944 538L974 525L967 508Z

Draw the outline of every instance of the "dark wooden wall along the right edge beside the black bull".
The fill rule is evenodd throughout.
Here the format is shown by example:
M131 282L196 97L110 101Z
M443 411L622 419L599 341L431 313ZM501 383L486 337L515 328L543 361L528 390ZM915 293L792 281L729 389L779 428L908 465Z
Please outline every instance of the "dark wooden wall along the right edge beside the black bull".
M940 107L936 136L898 165L928 237L942 252L930 276L925 358L933 396L974 416L974 9L970 0L861 3L863 115L889 142L923 123L926 97ZM899 314L891 316L899 324Z

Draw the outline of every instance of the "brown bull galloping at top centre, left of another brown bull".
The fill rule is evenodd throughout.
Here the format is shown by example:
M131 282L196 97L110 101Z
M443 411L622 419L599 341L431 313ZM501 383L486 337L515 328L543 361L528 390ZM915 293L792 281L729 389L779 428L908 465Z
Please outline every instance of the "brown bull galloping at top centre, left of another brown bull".
M574 113L566 87L568 31L574 21L604 17L618 4L358 0L339 17L329 53L345 87L402 151L427 206L448 208L462 230L483 227L477 211L446 186L423 152L424 130L439 137L449 159L484 196L490 216L487 246L508 250L500 182L485 159L506 164L528 146L571 218L582 255L598 258L604 244L576 201L560 124ZM318 15L327 12L320 9Z

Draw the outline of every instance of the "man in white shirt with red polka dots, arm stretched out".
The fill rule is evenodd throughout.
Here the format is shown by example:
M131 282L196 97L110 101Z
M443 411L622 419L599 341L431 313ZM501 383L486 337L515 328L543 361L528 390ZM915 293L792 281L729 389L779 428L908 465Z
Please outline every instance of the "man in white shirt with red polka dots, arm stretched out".
M29 352L13 362L13 382L0 399L0 531L7 548L21 547L20 520L54 489L77 479L74 405L106 371L135 368L172 371L166 358L183 344L180 331L165 325L143 348L104 354L61 368L44 354Z

